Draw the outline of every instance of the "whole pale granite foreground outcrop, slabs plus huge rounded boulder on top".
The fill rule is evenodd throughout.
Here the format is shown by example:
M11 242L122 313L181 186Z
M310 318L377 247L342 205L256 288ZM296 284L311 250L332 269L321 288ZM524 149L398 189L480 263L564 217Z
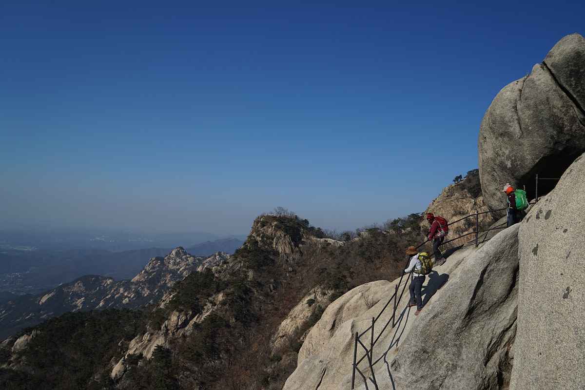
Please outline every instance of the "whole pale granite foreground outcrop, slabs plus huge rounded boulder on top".
M579 34L567 36L542 66L535 66L531 80L538 85L542 71L549 68L564 77L542 78L555 78L560 84L536 88L538 93L523 90L521 99L520 92L513 91L518 99L511 98L512 105L517 109L503 106L500 100L510 97L510 86L494 99L479 137L480 178L488 207L505 205L501 188L506 181L518 188L522 180L544 168L560 180L547 195L539 194L542 198L521 223L488 234L486 238L493 237L480 240L477 249L468 243L449 254L446 263L428 275L422 289L424 308L418 316L407 307L407 293L398 305L396 326L379 334L371 367L367 359L357 365L356 389L367 389L373 382L377 388L395 390L584 388L585 294L579 270L585 260L575 250L585 234L585 154L575 156L583 153L578 146L585 140L579 103L585 101L584 64L585 39ZM569 85L560 87L562 79ZM565 106L561 108L559 102ZM532 108L522 118L510 119L522 111L520 105ZM538 105L546 107L535 109ZM510 120L498 122L498 118ZM550 128L542 129L538 122ZM486 141L489 129L496 129L501 137ZM539 143L519 147L526 136L553 140L552 147ZM516 147L522 149L518 156ZM505 217L494 225L502 223L505 227ZM369 308L363 301L366 296L369 301L392 296L394 287L405 284L408 281L371 282L332 303L308 334L298 368L284 390L352 388L352 336L373 327L372 317L386 304L382 299ZM386 322L391 313L384 312L380 319ZM362 348L359 356L364 356Z

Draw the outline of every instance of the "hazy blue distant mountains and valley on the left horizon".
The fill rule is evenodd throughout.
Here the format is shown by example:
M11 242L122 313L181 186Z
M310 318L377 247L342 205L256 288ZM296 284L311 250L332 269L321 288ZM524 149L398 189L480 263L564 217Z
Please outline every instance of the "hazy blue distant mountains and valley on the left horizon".
M82 275L131 279L150 258L167 256L176 247L207 257L233 254L243 244L235 237L204 240L217 236L199 232L156 237L89 229L0 230L0 292L40 294Z

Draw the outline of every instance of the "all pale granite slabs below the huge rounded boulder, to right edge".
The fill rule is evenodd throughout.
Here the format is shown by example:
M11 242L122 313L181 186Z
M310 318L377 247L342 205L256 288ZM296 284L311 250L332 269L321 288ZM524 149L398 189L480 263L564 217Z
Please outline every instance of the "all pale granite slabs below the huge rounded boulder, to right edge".
M378 388L394 390L499 390L508 383L511 390L583 389L583 177L585 154L522 223L449 256L426 280L417 317L406 307L407 291L397 326L389 325L374 346L373 374L365 360L358 364L369 388L375 376ZM363 332L369 347L371 318L396 284L371 282L333 302L308 334L284 390L349 389L351 335ZM381 300L369 308L365 294ZM388 312L376 329L389 321ZM360 348L358 359L363 355ZM366 389L359 374L355 388Z

